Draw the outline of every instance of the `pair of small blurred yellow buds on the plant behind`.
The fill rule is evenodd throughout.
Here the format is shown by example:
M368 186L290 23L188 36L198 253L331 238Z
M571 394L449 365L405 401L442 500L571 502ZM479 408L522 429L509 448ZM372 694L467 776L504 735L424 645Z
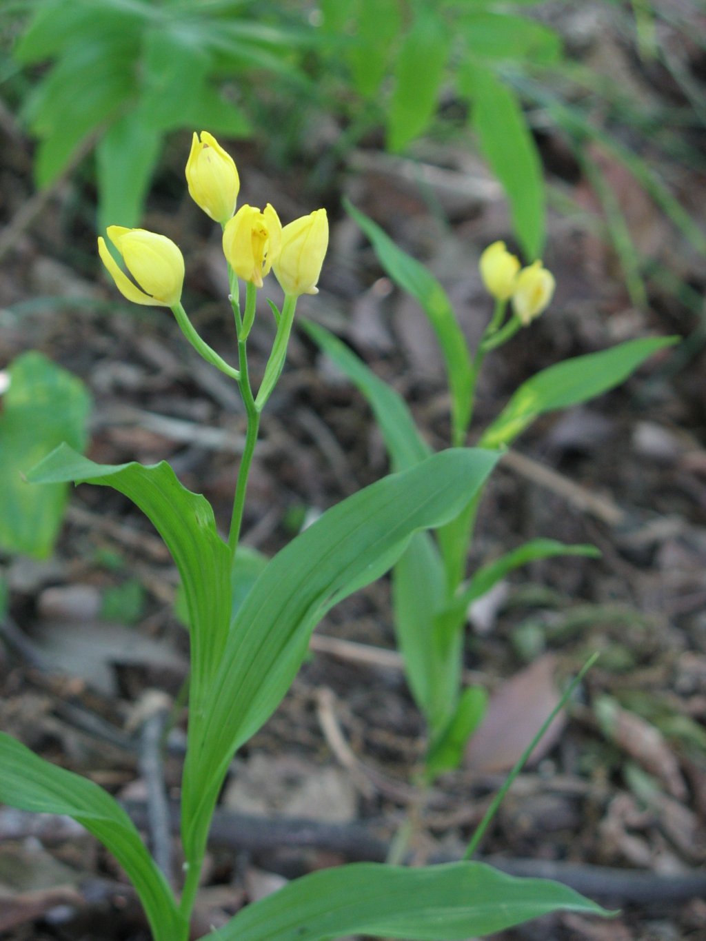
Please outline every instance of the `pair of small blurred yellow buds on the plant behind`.
M507 251L505 242L493 242L480 256L479 267L486 290L496 300L512 298L512 309L524 327L549 306L554 275L541 262L521 268L520 260Z

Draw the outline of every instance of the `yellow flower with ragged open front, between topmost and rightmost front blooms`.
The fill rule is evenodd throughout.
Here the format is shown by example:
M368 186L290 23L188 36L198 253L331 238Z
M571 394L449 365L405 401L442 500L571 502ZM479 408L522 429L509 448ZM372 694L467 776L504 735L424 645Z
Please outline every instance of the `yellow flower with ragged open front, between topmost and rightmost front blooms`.
M223 253L233 271L261 288L280 253L280 216L269 203L261 213L255 206L241 206L223 230Z

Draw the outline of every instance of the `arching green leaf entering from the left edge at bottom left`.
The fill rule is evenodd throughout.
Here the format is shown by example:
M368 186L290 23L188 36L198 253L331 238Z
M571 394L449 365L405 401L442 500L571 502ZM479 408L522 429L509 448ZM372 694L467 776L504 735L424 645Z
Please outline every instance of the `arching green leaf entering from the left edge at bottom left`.
M182 937L185 923L135 824L103 788L35 755L0 732L0 803L65 814L99 839L135 885L155 941Z

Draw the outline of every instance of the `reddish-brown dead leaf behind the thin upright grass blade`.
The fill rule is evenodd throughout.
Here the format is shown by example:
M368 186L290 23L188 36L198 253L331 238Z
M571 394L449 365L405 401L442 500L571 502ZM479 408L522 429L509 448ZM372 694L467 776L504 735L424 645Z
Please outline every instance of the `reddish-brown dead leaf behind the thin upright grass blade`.
M486 717L466 751L466 766L478 774L509 771L558 701L554 656L547 654L505 680L490 696ZM528 766L554 748L564 726L566 716L560 713L530 755Z

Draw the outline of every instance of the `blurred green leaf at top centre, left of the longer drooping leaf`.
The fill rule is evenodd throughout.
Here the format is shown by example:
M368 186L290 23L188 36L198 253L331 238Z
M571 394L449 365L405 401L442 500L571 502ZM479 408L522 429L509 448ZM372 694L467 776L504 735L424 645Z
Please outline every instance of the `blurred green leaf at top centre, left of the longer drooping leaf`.
M417 5L394 64L387 125L391 151L403 150L433 118L449 47L443 19L433 9Z

